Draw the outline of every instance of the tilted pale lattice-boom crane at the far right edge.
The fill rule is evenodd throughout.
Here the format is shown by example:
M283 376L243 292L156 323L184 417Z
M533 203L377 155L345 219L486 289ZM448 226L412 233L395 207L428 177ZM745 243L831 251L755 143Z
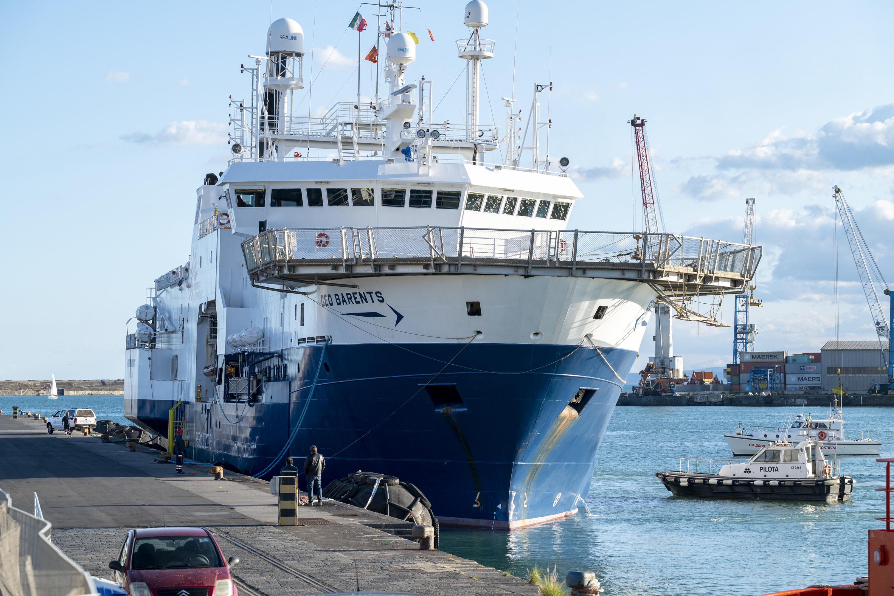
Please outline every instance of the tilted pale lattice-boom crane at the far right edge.
M873 318L873 327L879 338L879 348L882 356L882 364L888 369L888 387L880 387L878 383L870 388L874 393L888 393L890 385L894 384L894 355L891 354L891 329L888 321L885 320L884 312L881 310L879 295L875 291L875 283L873 282L873 273L881 280L885 286L884 293L891 298L888 282L885 281L884 275L881 274L879 265L875 262L873 252L866 244L863 232L860 226L856 224L856 218L848 206L848 201L844 197L844 193L836 185L832 187L832 198L835 199L835 206L838 208L841 217L841 225L844 228L845 236L848 239L850 252L854 256L854 264L856 265L856 273L860 277L860 285L863 286L863 293L866 297L866 303L869 305L869 315ZM868 260L866 259L868 256ZM894 302L890 305L890 319L894 320ZM888 340L888 361L884 360L883 341Z

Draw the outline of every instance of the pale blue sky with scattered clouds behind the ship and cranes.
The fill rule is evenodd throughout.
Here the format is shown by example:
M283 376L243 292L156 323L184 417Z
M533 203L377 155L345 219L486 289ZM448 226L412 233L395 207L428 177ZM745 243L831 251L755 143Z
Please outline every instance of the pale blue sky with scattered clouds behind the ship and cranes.
M412 4L421 10L403 21L420 43L408 82L434 80L434 120L461 121L465 3ZM533 85L553 83L541 97L550 153L569 158L586 196L569 228L639 229L636 113L666 231L740 241L745 198L756 198L756 348L817 351L836 337L836 233L839 336L873 339L831 187L894 282L894 4L488 4L482 35L497 45L481 119L502 128L510 94L527 116ZM0 4L0 379L122 377L125 322L152 281L188 259L195 189L226 166L229 97L249 91L240 64L287 16L305 31L315 80L302 109L352 100L358 10L375 28L374 7L349 2ZM360 35L364 55L374 42ZM360 74L369 97L375 67ZM732 303L721 303L723 323ZM687 369L729 362L731 345L729 327L675 322ZM651 328L635 370L650 353Z

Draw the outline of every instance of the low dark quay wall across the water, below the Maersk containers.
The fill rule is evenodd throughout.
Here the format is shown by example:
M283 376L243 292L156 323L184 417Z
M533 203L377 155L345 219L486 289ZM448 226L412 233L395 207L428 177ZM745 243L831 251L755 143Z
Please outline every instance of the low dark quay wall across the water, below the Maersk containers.
M735 393L698 393L696 395L622 395L619 406L810 406L829 407L831 393L816 395L742 395ZM892 406L894 395L845 395L841 405Z

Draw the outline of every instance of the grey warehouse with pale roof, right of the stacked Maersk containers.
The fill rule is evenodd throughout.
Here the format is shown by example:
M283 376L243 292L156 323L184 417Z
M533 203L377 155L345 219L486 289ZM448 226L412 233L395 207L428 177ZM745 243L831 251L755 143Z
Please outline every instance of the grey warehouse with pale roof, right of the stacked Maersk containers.
M822 389L862 393L873 383L888 382L888 350L883 354L877 340L827 341L822 347Z

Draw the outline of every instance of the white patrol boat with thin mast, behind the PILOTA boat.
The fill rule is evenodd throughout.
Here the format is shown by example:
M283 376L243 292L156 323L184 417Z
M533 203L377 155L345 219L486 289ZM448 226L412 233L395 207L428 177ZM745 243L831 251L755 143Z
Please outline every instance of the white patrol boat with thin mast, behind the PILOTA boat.
M735 432L724 434L723 438L734 456L753 455L768 441L798 442L805 439L822 441L822 451L836 456L877 456L881 453L881 441L871 438L869 431L860 431L859 439L845 438L844 420L837 398L827 418L798 414L790 426L746 427L740 423Z

